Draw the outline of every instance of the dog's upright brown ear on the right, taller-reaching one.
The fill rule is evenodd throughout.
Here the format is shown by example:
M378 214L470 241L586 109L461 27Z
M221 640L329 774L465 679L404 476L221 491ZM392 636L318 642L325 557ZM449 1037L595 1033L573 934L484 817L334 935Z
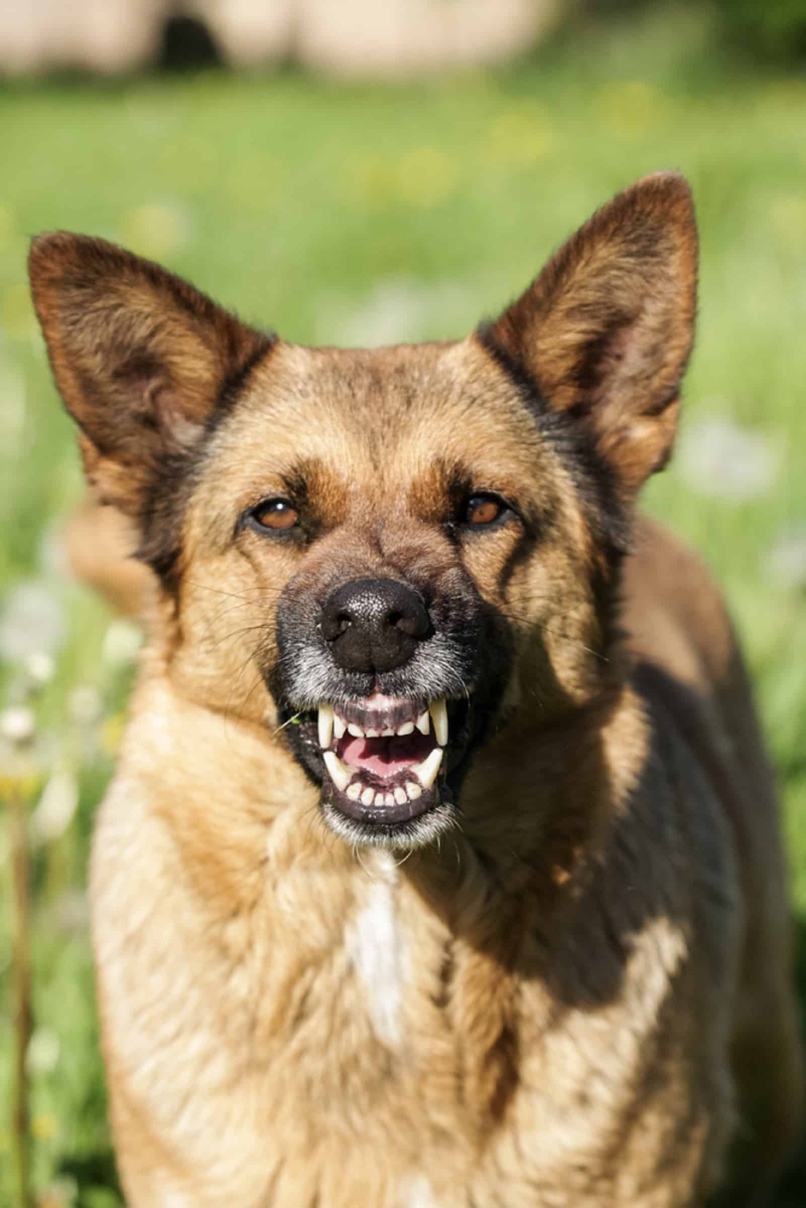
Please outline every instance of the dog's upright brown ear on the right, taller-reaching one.
M696 273L689 186L659 173L595 214L488 329L545 405L587 426L627 500L672 448Z

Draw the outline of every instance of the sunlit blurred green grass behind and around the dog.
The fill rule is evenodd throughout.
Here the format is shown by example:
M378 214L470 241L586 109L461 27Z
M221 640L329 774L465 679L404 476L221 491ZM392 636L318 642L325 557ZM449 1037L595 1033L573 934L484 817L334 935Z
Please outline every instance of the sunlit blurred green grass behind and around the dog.
M131 666L115 655L120 631L110 638L103 605L59 564L59 521L81 482L28 302L27 244L37 231L118 240L291 339L450 337L514 296L611 193L657 168L683 170L702 239L685 448L712 439L704 425L730 424L766 470L737 498L731 466L692 482L678 459L646 506L704 552L727 591L781 773L794 905L806 920L805 79L725 59L706 18L680 11L590 30L506 70L411 85L291 71L6 83L0 165L0 590L6 609L21 583L44 596L60 628L42 629L56 675L35 699L30 767L17 780L0 769L0 784L22 784L31 808L54 768L80 789L70 824L33 847L41 1204L120 1203L82 885ZM787 541L794 569L783 574L776 550ZM11 646L2 704L23 692ZM1 812L0 836L5 1206L11 894ZM806 1206L806 1175L779 1202Z

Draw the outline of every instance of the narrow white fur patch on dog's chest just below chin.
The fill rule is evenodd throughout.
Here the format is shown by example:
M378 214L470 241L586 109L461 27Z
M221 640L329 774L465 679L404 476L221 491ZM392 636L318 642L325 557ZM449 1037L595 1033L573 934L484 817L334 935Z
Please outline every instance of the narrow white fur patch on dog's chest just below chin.
M363 907L346 936L347 951L369 995L369 1014L376 1036L389 1049L401 1040L400 997L405 953L389 879L373 881Z

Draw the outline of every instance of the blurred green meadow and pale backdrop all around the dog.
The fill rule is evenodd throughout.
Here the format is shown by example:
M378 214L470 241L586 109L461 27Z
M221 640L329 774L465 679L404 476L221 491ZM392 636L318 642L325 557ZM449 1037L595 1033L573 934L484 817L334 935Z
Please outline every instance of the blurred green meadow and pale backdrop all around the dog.
M31 1203L122 1202L85 873L140 644L68 574L81 476L28 297L29 237L120 242L289 339L453 337L659 168L691 181L702 271L680 442L645 506L703 551L743 634L800 937L806 0L0 5L4 1208L23 1203L25 1136ZM806 1162L778 1203L806 1206Z

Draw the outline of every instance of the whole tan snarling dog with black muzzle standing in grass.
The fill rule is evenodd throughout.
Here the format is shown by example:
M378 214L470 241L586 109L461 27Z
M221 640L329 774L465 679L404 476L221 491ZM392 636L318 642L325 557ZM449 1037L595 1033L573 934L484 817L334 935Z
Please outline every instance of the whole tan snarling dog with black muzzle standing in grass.
M152 583L91 875L131 1204L766 1202L801 1111L773 784L719 594L634 515L685 181L457 343L284 343L82 236L30 274Z

